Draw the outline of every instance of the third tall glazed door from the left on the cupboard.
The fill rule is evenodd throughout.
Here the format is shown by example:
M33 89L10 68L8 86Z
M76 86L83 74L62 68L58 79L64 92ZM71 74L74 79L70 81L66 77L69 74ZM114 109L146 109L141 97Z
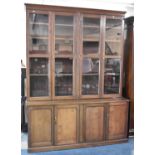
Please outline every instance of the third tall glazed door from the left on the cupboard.
M99 96L100 86L100 16L81 16L80 97Z

